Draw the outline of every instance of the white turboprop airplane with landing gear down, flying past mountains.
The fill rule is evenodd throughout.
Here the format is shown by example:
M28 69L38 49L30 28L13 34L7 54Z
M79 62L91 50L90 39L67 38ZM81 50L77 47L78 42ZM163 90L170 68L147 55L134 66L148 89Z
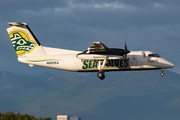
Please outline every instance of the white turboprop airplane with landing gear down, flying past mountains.
M26 23L9 22L7 29L18 61L30 67L42 66L74 72L98 72L103 80L107 71L140 71L164 69L174 65L151 51L129 51L108 48L102 42L93 42L84 52L43 47Z

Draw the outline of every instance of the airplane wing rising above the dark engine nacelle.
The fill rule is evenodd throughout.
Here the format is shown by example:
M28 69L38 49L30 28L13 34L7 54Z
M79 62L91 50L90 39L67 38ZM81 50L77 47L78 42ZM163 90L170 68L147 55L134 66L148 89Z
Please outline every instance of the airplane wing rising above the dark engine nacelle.
M87 53L94 53L94 52L107 52L110 49L104 45L102 42L93 42L91 46L89 46Z

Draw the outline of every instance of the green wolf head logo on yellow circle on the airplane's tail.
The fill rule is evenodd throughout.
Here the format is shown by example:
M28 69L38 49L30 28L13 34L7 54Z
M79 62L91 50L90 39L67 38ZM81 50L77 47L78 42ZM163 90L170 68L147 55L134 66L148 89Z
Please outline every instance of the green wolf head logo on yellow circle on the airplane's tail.
M18 57L30 53L36 47L36 43L24 31L14 31L9 36Z

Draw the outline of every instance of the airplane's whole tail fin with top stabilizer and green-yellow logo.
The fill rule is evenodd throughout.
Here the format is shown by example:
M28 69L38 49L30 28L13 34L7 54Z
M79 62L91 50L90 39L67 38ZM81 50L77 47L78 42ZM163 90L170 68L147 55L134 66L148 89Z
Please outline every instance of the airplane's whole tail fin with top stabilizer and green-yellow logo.
M45 50L26 23L11 22L7 29L18 57L43 56Z

